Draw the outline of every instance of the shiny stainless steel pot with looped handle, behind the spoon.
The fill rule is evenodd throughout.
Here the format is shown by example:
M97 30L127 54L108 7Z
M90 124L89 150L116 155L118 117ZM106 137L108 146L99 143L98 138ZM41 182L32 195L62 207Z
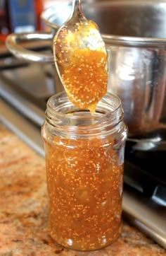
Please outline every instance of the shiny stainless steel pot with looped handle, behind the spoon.
M82 1L87 18L95 21L108 50L108 91L120 96L129 134L165 127L166 1ZM52 40L70 16L71 1L55 0L41 14L50 33L9 35L8 49L32 62L53 62L53 54L25 50L19 42ZM58 79L58 77L57 77ZM59 87L59 81L56 86ZM62 88L62 86L60 86Z

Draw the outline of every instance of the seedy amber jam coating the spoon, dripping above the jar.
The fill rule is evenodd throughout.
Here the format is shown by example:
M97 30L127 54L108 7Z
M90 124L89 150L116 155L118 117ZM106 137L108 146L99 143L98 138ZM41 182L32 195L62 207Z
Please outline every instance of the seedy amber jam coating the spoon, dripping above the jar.
M74 105L80 109L88 108L91 113L95 112L98 101L106 94L108 82L105 47L96 47L98 42L87 46L81 39L90 37L90 31L96 29L92 21L77 23L75 33L64 28L56 41L56 59L65 91ZM70 53L66 45L70 45Z

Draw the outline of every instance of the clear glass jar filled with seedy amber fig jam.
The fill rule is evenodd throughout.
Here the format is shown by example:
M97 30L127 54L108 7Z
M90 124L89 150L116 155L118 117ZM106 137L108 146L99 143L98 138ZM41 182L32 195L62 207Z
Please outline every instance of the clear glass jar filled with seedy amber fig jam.
M120 98L107 93L94 115L53 95L42 127L49 230L60 245L97 250L120 235L127 128Z

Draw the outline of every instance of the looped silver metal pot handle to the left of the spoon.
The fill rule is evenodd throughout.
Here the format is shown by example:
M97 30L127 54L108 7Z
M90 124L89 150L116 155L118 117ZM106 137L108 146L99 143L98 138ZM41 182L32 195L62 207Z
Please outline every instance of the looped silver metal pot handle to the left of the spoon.
M11 35L8 35L8 37L6 38L6 47L13 55L15 55L15 57L18 57L19 59L26 59L31 62L53 63L53 54L34 52L32 50L25 49L25 47L23 47L22 45L19 45L19 42L32 42L34 40L52 41L53 33L13 33Z

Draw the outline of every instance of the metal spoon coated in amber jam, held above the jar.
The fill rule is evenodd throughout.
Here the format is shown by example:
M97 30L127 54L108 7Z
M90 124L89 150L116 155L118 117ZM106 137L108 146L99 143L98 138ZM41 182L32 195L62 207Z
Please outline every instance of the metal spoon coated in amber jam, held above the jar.
M94 112L107 91L107 52L98 26L82 13L81 0L72 1L72 14L53 39L53 54L72 103Z

